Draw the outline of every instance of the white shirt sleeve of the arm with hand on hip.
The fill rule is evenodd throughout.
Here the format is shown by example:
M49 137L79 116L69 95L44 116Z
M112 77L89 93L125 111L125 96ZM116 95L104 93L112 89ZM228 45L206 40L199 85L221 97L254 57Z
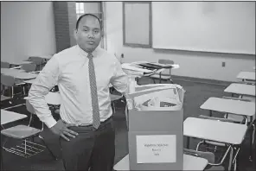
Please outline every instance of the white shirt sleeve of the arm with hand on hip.
M45 96L57 84L60 69L57 57L54 55L35 79L29 90L29 103L34 107L35 114L51 128L56 123L46 102Z

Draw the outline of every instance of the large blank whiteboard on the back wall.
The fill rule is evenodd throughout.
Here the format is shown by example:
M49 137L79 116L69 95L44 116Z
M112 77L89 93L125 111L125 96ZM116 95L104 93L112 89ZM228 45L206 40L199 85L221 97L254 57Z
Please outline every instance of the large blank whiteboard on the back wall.
M152 2L152 48L255 54L255 2Z

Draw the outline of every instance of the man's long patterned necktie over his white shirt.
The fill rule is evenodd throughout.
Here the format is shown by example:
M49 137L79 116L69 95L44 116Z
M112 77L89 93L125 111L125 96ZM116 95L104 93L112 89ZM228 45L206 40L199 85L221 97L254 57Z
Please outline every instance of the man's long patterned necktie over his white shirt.
M93 128L97 130L100 124L99 118L99 102L98 102L98 93L96 85L96 77L93 64L93 54L88 54L87 58L89 59L89 77L90 77L90 87L91 87L91 96L92 96L92 105L93 105Z

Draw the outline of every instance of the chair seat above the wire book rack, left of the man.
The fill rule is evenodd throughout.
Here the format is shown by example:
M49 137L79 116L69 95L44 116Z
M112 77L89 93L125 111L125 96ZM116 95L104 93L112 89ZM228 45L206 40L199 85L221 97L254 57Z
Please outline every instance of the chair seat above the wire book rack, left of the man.
M41 130L22 124L10 127L9 129L1 130L1 134L3 134L4 136L9 136L16 139L23 139L29 136L35 136L40 132Z

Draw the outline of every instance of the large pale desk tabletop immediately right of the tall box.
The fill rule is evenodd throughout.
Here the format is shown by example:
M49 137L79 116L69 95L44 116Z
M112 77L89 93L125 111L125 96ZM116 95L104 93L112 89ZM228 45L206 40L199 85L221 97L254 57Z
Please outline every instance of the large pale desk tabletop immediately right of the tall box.
M188 117L183 122L183 135L239 145L246 136L246 124Z

